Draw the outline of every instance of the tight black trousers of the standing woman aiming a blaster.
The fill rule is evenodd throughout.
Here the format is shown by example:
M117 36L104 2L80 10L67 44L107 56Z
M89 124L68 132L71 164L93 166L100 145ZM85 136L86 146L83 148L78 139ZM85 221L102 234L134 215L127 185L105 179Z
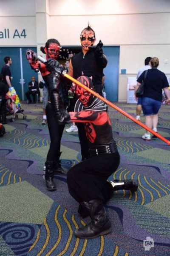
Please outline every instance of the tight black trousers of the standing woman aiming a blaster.
M50 148L47 154L47 161L57 162L60 156L61 137L65 125L59 125L54 119L54 111L51 104L46 106L48 130L50 134Z

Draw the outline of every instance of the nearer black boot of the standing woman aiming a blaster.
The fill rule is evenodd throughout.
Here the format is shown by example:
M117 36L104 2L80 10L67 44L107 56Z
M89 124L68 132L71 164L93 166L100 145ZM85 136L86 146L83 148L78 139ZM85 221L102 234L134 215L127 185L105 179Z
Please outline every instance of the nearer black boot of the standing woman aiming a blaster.
M53 180L54 171L53 171L54 162L47 161L45 162L45 186L48 190L56 190L56 184Z

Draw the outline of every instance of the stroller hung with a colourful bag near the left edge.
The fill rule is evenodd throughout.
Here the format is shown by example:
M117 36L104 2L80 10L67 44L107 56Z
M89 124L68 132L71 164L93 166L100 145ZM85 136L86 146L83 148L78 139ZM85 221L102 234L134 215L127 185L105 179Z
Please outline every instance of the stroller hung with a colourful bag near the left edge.
M6 93L6 111L7 115L12 115L10 119L11 122L14 122L20 115L23 119L26 119L26 115L23 113L24 110L21 108L20 99L14 87L10 87L8 93Z

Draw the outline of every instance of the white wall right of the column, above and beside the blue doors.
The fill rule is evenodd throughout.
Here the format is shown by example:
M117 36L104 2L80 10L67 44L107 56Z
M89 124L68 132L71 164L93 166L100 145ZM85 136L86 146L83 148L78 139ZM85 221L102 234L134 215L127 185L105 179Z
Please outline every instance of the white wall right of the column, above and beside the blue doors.
M147 56L158 57L159 69L170 74L170 0L49 0L49 12L51 38L62 45L79 45L89 22L96 41L120 46L119 73L126 75L119 75L119 101L126 101L127 77L136 77Z

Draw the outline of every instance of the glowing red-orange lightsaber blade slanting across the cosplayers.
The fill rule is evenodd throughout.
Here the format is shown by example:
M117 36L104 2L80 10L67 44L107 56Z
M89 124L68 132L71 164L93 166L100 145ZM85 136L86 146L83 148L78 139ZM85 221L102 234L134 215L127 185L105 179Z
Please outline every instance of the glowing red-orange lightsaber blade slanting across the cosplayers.
M126 113L125 111L123 111L121 108L118 108L116 105L114 105L113 103L111 103L110 101L108 101L107 99L103 98L102 96L100 96L98 93L94 92L93 90L91 90L90 88L86 87L84 84L80 83L79 81L77 81L76 79L74 79L73 77L69 76L66 73L62 73L63 76L67 77L68 79L70 79L71 81L73 81L75 84L78 84L79 86L81 86L82 88L84 88L85 90L87 90L89 93L92 93L94 96L96 96L97 98L101 99L103 102L105 102L106 104L108 104L109 106L111 106L112 108L116 109L119 113L123 114L124 116L126 116L127 118L129 118L130 120L132 120L133 122L136 122L136 124L142 126L142 128L146 129L147 131L149 131L150 133L152 133L153 135L155 135L156 137L158 137L160 140L163 140L165 143L167 143L168 145L170 145L170 141L165 139L163 136L161 136L160 134L156 133L155 131L153 131L152 129L150 129L149 127L147 127L146 125L142 124L142 122L136 120L133 116L130 116L128 113Z

